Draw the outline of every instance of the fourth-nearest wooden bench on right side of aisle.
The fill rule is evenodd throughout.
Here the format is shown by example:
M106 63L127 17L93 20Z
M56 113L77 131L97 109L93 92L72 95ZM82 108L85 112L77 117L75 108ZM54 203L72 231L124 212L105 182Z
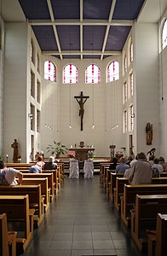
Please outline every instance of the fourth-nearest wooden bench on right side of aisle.
M114 205L118 212L120 211L121 207L121 196L124 193L124 184L129 183L129 179L126 177L117 177L116 178L116 187L114 190Z

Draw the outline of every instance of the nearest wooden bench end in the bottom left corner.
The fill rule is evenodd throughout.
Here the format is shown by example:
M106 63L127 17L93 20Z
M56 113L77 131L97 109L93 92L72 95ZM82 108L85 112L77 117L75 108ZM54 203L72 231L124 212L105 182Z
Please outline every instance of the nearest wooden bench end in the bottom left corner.
M16 255L17 232L9 232L6 213L0 214L0 255Z

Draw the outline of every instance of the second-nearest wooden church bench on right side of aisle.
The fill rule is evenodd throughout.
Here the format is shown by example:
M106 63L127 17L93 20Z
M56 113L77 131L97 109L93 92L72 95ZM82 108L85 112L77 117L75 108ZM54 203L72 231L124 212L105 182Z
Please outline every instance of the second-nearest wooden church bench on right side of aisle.
M158 212L167 212L167 195L136 195L131 212L131 236L140 251L147 248L146 230L154 230Z

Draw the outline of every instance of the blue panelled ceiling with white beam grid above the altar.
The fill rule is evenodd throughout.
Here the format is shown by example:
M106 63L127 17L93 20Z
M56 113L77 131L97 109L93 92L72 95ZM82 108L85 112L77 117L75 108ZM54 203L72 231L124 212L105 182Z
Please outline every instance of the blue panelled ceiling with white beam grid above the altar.
M43 54L103 59L120 54L144 0L19 0Z

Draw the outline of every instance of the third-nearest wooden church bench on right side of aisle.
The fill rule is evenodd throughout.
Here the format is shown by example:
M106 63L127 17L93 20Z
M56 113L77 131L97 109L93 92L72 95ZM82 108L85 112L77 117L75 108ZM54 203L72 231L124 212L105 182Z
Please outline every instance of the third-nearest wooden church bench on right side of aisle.
M130 210L135 205L135 195L156 195L167 194L166 184L137 184L124 185L124 194L121 196L121 218L124 224L128 227L130 225Z

